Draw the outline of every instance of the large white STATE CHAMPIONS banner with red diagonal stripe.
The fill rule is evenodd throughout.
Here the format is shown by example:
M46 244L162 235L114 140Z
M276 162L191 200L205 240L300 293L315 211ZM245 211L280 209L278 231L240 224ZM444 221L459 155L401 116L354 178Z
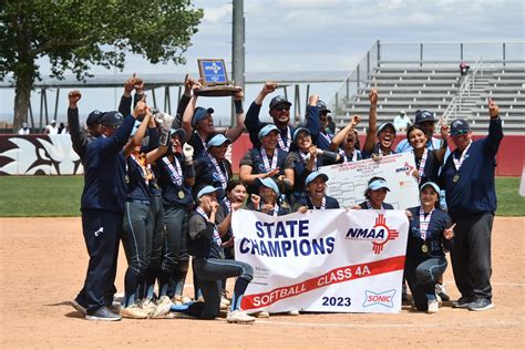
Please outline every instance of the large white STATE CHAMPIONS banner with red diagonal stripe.
M398 312L409 222L402 210L238 210L235 258L254 267L245 310Z

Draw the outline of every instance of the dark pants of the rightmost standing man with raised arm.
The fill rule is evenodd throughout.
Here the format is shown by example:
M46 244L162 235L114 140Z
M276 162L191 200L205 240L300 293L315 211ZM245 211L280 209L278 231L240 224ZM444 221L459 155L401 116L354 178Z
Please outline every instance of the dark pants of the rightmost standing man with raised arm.
M451 247L454 280L462 297L492 301L491 236L494 215L480 213L454 220Z

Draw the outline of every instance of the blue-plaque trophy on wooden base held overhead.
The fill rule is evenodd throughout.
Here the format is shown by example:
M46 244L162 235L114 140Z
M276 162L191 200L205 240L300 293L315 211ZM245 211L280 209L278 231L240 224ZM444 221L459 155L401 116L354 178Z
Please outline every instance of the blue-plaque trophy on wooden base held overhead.
M226 64L224 60L218 59L204 59L197 60L198 72L203 82L203 87L196 90L196 94L199 96L231 96L234 93L239 92L240 87L234 86L228 81L228 73L226 72Z

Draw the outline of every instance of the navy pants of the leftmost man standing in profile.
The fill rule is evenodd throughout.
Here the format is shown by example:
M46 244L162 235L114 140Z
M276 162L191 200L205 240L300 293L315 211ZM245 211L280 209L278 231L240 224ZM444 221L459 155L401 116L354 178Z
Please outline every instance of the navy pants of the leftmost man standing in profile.
M113 301L122 213L82 210L82 230L90 255L84 288L76 300L92 313Z

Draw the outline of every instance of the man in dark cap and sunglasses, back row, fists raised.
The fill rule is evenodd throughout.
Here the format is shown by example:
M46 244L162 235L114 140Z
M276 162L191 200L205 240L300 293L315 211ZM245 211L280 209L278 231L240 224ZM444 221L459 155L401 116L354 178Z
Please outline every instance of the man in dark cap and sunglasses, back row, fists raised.
M267 124L262 123L259 119L262 101L268 94L275 92L276 89L277 84L275 82L266 82L246 113L245 126L248 130L249 138L254 147L260 146L259 131ZM306 128L310 131L312 140L317 140L320 128L319 109L317 107L318 101L318 95L311 95L307 107ZM289 152L290 148L294 147L291 135L294 134L295 126L290 125L290 106L291 103L281 95L275 96L270 101L269 114L274 120L274 124L279 128L277 147L286 152Z

